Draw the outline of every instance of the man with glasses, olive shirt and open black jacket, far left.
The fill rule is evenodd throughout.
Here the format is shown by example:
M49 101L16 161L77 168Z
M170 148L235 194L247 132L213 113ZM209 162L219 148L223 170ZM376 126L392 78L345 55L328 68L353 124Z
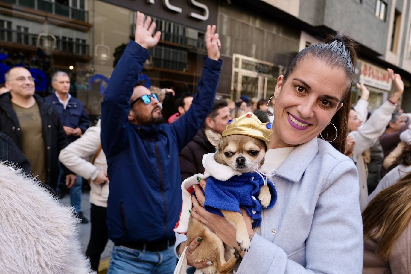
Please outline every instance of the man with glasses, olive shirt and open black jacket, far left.
M67 145L58 113L35 94L34 78L27 69L9 69L5 78L10 92L0 96L0 131L28 158L32 175L55 190L58 154ZM66 175L66 183L71 180L76 180L76 176Z

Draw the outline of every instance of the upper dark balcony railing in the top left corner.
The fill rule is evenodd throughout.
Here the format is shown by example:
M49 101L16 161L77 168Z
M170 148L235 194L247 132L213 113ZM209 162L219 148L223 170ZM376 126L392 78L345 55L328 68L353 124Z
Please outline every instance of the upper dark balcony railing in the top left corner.
M65 16L71 19L88 22L88 12L47 0L2 0L2 2L29 7L42 12Z

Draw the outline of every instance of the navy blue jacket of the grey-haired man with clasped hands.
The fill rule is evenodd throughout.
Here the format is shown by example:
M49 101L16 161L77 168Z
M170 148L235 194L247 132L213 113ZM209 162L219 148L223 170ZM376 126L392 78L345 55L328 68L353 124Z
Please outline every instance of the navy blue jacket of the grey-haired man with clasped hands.
M90 119L88 118L87 113L85 112L83 103L77 98L71 97L67 103L66 109L64 109L63 104L58 101L57 96L55 93L47 96L44 98L48 104L51 104L53 108L58 112L60 116L60 121L63 126L72 127L75 129L76 127L81 128L81 132L84 133L86 129L90 126ZM69 143L72 143L76 139L80 138L80 136L67 136L67 140Z

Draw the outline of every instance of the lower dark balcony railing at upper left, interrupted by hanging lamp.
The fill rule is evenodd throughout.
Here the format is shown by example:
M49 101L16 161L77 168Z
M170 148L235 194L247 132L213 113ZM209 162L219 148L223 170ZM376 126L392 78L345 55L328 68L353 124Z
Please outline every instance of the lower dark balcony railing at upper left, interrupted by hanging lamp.
M0 42L10 42L26 46L37 47L37 34L28 32L19 32L16 30L9 30L5 28L0 28ZM74 53L79 55L89 54L89 45L84 43L79 43L77 41L70 41L67 39L57 38L57 48L55 50Z

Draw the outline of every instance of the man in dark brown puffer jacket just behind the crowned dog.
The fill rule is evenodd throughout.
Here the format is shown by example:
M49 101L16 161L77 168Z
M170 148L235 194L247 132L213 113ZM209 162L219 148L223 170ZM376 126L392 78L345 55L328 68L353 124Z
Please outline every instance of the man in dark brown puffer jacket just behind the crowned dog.
M222 134L230 119L230 110L227 101L214 101L214 106L205 119L204 127L197 132L193 140L191 140L180 152L179 159L182 181L194 174L204 173L202 163L203 155L215 152L215 147L204 134L204 128L212 129L219 134Z

